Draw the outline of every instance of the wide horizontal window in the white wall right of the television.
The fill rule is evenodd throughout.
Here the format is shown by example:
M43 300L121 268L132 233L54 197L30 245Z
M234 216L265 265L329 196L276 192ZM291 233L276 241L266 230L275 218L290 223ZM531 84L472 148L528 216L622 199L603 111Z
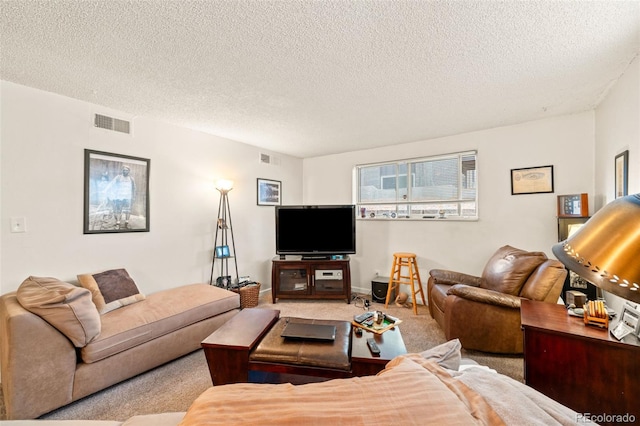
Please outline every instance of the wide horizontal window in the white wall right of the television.
M476 151L356 166L362 219L477 219Z

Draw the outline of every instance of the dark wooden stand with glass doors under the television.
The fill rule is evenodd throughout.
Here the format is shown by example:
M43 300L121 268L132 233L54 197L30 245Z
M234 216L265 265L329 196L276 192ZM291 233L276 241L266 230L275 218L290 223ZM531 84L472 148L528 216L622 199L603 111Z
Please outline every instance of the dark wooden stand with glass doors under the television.
M346 299L347 303L351 303L349 257L274 257L271 265L271 301L276 303L280 298Z

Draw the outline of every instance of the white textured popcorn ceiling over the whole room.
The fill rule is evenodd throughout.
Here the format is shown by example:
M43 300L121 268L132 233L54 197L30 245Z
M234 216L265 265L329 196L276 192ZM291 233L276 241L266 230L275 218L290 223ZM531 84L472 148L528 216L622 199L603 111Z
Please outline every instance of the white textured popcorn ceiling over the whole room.
M3 80L297 157L591 110L640 52L639 1L0 7Z

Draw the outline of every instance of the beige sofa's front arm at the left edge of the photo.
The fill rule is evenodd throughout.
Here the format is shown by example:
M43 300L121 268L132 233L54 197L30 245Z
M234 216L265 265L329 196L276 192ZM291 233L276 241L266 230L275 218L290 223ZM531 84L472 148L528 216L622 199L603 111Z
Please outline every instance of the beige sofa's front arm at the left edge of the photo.
M33 419L72 401L76 351L69 339L20 305L0 298L0 367L7 419Z

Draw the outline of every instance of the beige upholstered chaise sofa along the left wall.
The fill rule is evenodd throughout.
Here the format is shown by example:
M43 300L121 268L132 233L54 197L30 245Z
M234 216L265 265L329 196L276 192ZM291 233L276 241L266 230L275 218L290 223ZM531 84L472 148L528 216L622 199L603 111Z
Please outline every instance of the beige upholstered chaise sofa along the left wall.
M34 301L42 306L44 296L21 299L22 286L0 297L1 381L9 420L36 418L197 350L240 309L237 293L191 284L100 314L85 288L29 279L35 280L32 287L36 282L48 296L56 295L56 309L33 308Z

